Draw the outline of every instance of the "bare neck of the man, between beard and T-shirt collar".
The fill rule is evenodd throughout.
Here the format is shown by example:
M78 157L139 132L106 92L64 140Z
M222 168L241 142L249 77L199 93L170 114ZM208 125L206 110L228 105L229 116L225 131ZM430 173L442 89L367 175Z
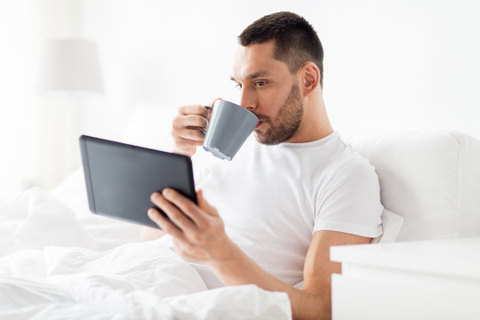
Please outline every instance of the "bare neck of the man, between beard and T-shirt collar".
M303 99L303 110L299 130L288 142L311 142L320 140L333 132L320 87Z

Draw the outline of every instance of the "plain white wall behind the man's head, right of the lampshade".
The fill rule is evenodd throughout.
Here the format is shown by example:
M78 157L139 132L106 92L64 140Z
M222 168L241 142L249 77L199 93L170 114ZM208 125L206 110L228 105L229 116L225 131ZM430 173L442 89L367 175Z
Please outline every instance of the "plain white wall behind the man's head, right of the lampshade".
M109 94L122 112L140 103L236 100L228 80L236 36L264 14L290 10L324 44L324 96L337 130L457 129L480 137L475 0L91 0L85 10L86 33L113 59L105 66L116 78Z

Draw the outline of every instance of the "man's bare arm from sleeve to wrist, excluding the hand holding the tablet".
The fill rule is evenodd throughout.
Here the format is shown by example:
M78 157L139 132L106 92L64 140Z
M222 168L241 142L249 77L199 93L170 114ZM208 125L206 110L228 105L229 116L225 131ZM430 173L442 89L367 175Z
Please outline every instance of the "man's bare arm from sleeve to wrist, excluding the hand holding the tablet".
M370 240L371 238L341 232L317 231L308 248L302 290L269 275L237 246L231 249L229 260L212 261L207 265L224 284L257 284L268 291L286 292L292 304L294 319L330 319L332 273L341 273L340 263L330 260L330 246L368 244Z

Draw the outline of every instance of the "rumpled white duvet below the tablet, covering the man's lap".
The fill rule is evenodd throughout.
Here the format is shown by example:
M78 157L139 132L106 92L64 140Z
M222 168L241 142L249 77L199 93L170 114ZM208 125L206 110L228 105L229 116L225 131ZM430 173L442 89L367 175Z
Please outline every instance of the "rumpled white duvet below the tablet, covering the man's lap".
M69 200L34 188L0 202L0 319L292 318L285 293L207 291L164 244Z

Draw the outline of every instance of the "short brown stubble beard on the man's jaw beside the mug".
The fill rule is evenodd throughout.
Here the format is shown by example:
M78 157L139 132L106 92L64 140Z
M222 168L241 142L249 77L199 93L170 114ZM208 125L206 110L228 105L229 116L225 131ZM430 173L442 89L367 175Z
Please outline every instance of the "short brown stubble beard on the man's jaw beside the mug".
M268 124L269 128L265 133L255 132L255 137L257 141L268 146L289 140L299 130L302 118L303 104L299 85L292 84L292 89L278 115L273 120L260 116L260 120L263 124Z

